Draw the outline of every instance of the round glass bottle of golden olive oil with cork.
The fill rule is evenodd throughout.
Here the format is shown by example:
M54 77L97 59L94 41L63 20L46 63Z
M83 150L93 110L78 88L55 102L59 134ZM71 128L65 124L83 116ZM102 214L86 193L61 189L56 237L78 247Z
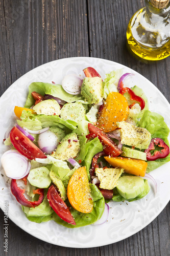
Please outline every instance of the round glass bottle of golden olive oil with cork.
M164 59L170 55L170 2L145 0L145 4L129 22L128 46L143 59Z

